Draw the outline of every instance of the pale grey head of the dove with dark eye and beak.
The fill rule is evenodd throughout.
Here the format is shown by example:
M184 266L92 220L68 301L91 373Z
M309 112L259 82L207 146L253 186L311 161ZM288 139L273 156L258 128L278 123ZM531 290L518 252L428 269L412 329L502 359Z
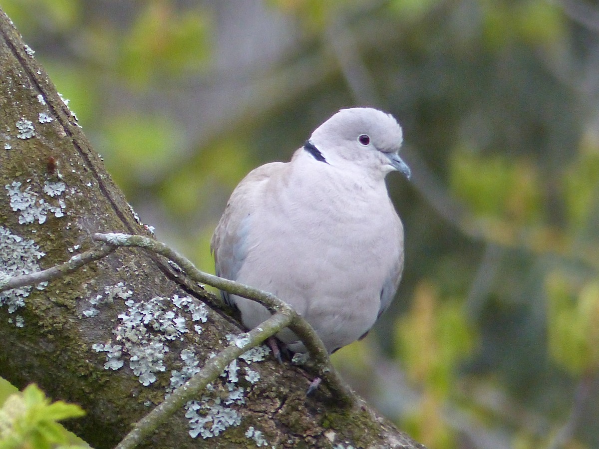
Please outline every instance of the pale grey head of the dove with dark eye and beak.
M410 168L398 155L402 141L394 117L373 108L342 109L308 140L332 166L366 170L374 177L397 170L409 179Z

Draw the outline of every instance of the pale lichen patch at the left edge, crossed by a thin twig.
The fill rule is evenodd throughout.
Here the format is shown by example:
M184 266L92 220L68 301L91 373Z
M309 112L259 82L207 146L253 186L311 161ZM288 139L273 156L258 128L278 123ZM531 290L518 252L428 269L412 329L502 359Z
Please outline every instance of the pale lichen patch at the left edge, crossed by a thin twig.
M0 283L3 279L40 271L38 260L45 255L33 240L22 238L0 226ZM38 284L37 289L43 290L47 285L47 282ZM25 305L25 298L29 296L31 288L26 286L0 292L0 307L7 305L8 313L14 313ZM23 321L17 320L17 326L19 323Z

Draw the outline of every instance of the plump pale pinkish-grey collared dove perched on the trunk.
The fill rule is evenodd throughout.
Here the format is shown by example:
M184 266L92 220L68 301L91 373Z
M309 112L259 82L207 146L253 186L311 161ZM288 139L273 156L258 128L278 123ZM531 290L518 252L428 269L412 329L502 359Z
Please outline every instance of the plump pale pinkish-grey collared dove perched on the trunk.
M339 111L291 162L271 162L237 186L211 241L216 274L273 293L314 327L329 353L364 336L391 303L404 232L385 185L410 177L401 127L371 108ZM224 293L252 329L270 314ZM305 347L289 329L292 351Z

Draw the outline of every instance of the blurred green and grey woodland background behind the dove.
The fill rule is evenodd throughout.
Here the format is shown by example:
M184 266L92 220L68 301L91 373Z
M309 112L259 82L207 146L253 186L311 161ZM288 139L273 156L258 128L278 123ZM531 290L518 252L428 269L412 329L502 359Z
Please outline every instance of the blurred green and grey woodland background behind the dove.
M404 279L335 363L431 448L599 447L599 24L585 23L599 8L261 5L2 8L142 220L202 269L250 169L288 160L338 108L393 113L414 171L410 184L389 176ZM365 376L385 378L383 365L406 375L415 402Z

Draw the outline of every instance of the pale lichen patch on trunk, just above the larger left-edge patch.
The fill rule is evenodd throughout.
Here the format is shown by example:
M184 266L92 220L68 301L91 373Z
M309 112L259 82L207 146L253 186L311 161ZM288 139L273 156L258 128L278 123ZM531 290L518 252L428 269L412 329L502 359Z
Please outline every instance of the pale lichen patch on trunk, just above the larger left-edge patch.
M53 205L44 198L40 198L40 195L31 189L32 186L27 186L23 190L21 186L22 183L19 181L13 181L4 186L10 196L10 207L13 211L20 212L19 223L21 225L29 225L34 222L43 225L49 214L53 214L56 218L65 215L66 203L63 199L58 199L56 202L58 205ZM60 196L65 190L65 185L46 181L43 190L50 197Z

